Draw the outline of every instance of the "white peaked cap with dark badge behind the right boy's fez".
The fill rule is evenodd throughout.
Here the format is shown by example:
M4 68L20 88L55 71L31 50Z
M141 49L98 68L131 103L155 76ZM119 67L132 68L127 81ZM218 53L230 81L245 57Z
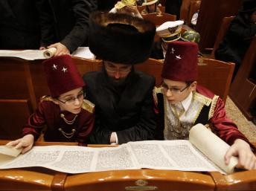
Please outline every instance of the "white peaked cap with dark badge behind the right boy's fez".
M164 42L172 42L178 40L181 36L182 25L184 21L164 22L156 29L156 33Z

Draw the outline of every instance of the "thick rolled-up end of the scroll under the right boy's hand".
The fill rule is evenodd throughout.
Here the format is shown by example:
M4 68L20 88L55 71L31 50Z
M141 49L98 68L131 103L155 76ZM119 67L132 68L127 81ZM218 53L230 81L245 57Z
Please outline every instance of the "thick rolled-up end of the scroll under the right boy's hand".
M214 135L210 129L207 129L202 124L193 126L189 134L189 140L197 149L204 153L214 162L214 164L217 164L217 166L225 172L228 174L234 172L234 166L237 165L238 159L231 157L229 164L225 164L224 155L230 146L220 139L220 137Z

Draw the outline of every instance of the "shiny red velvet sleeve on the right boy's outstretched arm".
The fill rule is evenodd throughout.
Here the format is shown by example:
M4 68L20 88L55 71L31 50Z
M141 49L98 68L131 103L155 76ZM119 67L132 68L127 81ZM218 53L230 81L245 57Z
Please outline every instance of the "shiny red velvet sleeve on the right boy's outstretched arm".
M234 140L243 139L247 143L249 140L237 129L237 126L227 117L225 113L225 104L220 98L217 100L216 107L214 109L214 115L211 117L210 122L214 125L215 130L219 137L225 140L226 143L232 145ZM252 149L255 147L249 143Z

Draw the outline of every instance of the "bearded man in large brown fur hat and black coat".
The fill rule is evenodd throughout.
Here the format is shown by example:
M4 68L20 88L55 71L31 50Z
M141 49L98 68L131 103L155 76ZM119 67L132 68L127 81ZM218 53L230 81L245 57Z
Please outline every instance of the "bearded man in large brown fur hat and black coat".
M120 13L93 13L89 48L103 59L101 71L87 73L86 95L95 103L92 143L151 140L156 129L152 76L133 65L150 56L156 27L151 22Z

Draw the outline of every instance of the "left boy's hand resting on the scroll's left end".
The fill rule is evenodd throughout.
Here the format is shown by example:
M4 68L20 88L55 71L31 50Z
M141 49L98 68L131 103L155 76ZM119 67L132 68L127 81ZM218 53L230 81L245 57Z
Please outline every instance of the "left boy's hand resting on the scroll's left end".
M22 148L22 154L28 152L33 146L33 135L25 135L24 137L10 141L7 146L15 146L16 149Z

